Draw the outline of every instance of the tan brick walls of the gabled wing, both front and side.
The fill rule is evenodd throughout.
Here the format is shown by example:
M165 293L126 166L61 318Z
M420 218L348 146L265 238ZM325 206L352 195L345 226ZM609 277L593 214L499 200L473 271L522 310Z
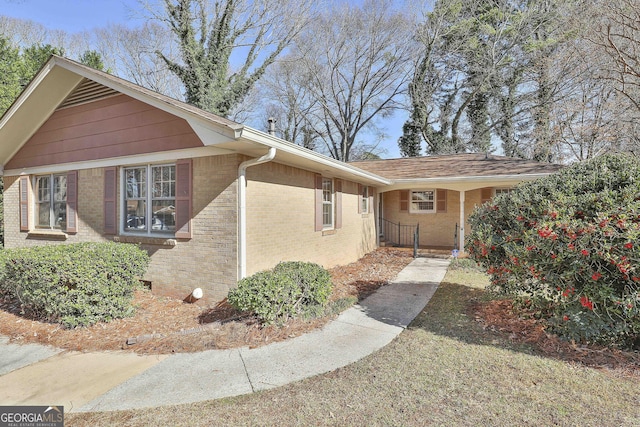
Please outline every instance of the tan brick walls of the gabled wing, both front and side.
M219 301L237 282L237 174L243 160L246 158L240 155L193 159L191 239L104 235L102 168L78 171L78 233L46 236L36 230L20 232L18 177L6 176L5 246L110 240L137 243L151 256L144 279L152 283L154 292L183 299L199 287L204 291L203 302ZM355 182L342 181L342 227L314 231L314 176L275 162L248 169L248 274L290 260L333 267L356 261L375 249L374 214L358 213L360 197ZM118 212L120 188L118 183ZM121 214L118 218L122 221Z

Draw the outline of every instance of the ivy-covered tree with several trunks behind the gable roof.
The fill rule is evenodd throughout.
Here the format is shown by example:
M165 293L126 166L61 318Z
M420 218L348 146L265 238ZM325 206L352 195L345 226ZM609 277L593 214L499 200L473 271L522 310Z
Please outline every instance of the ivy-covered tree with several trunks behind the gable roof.
M185 98L227 116L291 43L308 19L308 2L163 0L181 61L158 55L182 81ZM240 59L240 58L243 59ZM232 63L240 64L234 67Z

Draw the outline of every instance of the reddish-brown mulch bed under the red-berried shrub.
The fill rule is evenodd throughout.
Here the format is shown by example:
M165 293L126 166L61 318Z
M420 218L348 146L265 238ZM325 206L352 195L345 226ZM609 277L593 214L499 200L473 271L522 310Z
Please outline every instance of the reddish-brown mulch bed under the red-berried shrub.
M531 344L544 356L640 377L640 353L563 341L546 332L542 320L518 316L510 300L476 302L469 310L485 329L507 334L513 342Z

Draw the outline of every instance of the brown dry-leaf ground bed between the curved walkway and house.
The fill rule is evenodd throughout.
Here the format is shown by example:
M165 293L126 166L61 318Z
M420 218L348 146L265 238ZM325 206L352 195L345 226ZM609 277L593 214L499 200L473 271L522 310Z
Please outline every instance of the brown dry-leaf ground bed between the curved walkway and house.
M413 259L406 249L380 248L346 266L330 270L332 300L358 299L392 280ZM129 350L142 354L194 352L212 348L257 347L322 327L330 318L290 320L261 327L253 317L236 312L226 301L201 307L137 291L133 317L87 328L64 329L21 316L19 307L0 300L0 334L13 342L37 342L75 351ZM231 320L230 320L231 319ZM133 340L130 340L132 339ZM136 341L135 344L127 344Z

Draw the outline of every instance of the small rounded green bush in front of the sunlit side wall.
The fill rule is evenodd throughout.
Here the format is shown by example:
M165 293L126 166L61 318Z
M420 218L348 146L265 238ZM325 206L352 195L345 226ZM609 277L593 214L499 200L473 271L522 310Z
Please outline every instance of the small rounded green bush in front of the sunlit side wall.
M322 267L306 262L282 262L273 270L242 279L229 292L238 310L252 311L264 324L283 322L323 309L331 295L331 277Z

